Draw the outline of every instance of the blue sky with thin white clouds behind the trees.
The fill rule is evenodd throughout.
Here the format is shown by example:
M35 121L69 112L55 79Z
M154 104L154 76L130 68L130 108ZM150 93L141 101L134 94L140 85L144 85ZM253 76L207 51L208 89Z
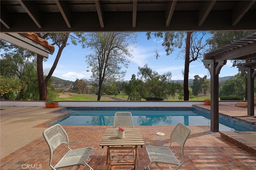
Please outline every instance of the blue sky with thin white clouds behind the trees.
M133 58L128 58L130 64L129 68L126 69L124 80L130 80L132 74L135 74L137 77L138 67L143 67L145 64L148 64L148 67L153 71L157 71L158 74L170 71L172 73L172 80L183 80L184 57L178 57L181 49L174 49L172 54L166 56L161 44L161 38L155 39L152 37L150 40L147 40L145 32L138 33L136 48L133 49L132 53ZM160 54L158 59L154 56L156 46ZM58 47L55 47L54 54L49 55L48 60L43 63L44 73L46 75L52 67L57 52ZM73 45L69 42L69 45L62 51L53 76L70 81L76 81L77 78L90 79L91 73L86 71L88 65L85 62L85 56L90 53L90 49L83 49L80 44ZM189 69L189 79L194 79L194 75L199 75L200 77L207 75L207 78L210 78L208 69L204 67L201 61L192 61ZM232 76L237 73L238 68L232 67L231 61L227 61L226 65L222 67L219 77Z

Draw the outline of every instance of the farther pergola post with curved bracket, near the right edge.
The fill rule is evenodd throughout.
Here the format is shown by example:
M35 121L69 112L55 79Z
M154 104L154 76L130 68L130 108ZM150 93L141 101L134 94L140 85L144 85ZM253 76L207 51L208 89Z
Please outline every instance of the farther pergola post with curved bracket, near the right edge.
M254 116L254 78L256 75L256 63L243 63L238 69L247 78L247 115Z

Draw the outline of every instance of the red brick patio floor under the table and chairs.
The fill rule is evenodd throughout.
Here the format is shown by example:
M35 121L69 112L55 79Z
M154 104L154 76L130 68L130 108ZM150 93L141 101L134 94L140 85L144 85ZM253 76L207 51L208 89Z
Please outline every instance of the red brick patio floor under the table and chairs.
M234 107L234 106L233 106ZM230 111L230 109L227 109ZM234 107L234 110L239 110ZM227 111L227 112L228 112ZM239 116L239 115L236 115ZM70 138L70 148L82 148L92 146L94 148L88 164L94 170L103 170L106 166L106 147L99 146L101 137L106 128L111 126L63 126ZM189 126L190 136L184 147L185 163L180 169L186 170L256 170L256 156L228 142L220 136L219 132L210 131L207 126ZM135 126L140 128L146 145L167 146L169 135L174 126ZM156 132L164 132L165 136L157 136ZM255 134L252 134L255 135ZM15 136L14 136L15 138ZM26 138L26 136L24 136ZM180 159L180 148L173 143L173 152ZM63 146L64 147L64 146ZM34 168L50 169L49 148L43 136L19 148L15 152L1 158L1 170L24 169L27 165L34 165ZM63 148L56 150L56 159L63 155ZM54 164L53 162L53 164ZM142 170L149 164L149 158L145 146L139 147L139 169ZM35 167L37 166L37 167ZM166 170L166 165L160 164ZM175 166L173 166L175 168ZM112 169L130 170L132 166L113 166ZM155 164L150 166L152 170L158 169ZM25 167L26 169L26 167ZM70 168L64 168L70 169ZM77 169L72 167L71 169ZM87 170L87 166L79 169Z

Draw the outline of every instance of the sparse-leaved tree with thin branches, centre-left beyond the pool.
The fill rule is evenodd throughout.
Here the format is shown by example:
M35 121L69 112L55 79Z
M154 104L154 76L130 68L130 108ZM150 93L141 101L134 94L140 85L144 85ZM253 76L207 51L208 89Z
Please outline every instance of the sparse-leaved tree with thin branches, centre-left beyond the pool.
M91 78L97 81L98 98L102 95L104 81L113 82L122 79L128 68L127 57L132 57L132 46L135 44L136 34L126 32L92 32L86 34L86 47L93 53L86 55L86 63L92 71Z

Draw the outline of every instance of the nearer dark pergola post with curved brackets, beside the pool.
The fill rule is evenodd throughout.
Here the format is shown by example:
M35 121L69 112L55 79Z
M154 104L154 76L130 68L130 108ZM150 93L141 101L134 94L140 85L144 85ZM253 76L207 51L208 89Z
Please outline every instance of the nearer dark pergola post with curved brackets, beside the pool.
M204 66L209 70L210 80L210 94L211 94L211 131L219 131L219 73L226 60L215 62L214 59L204 59Z

